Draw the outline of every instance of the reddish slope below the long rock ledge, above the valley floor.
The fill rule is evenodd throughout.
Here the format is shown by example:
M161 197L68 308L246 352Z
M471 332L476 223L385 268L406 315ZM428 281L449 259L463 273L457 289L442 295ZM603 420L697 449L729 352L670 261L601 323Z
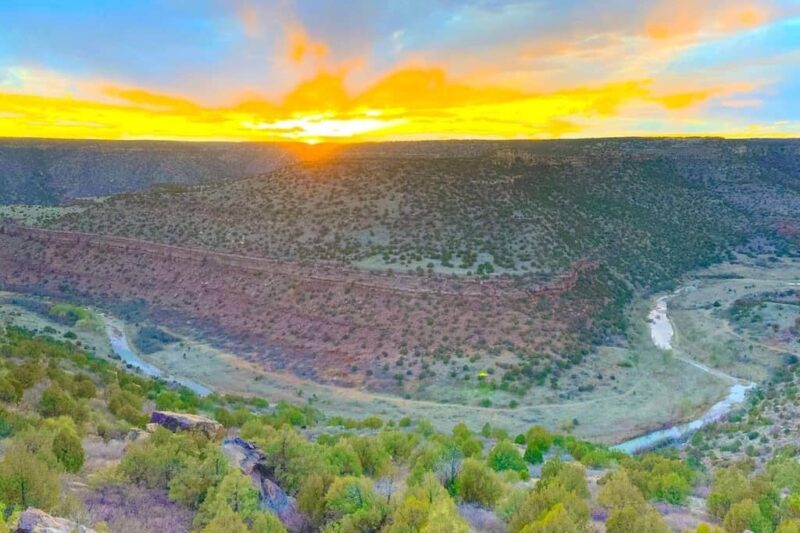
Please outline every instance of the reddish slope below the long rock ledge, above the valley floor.
M136 320L191 328L264 368L374 390L393 390L393 367L408 350L434 364L442 345L471 355L509 341L544 360L597 305L573 294L596 266L580 262L549 282L467 281L0 228L6 289L134 310L144 315ZM522 325L539 334L526 336Z

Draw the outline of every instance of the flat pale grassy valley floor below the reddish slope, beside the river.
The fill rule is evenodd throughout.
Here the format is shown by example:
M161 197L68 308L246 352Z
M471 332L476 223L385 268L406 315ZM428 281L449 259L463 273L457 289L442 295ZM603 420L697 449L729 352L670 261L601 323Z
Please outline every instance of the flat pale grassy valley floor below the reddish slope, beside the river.
M632 348L601 347L572 371L603 374L607 387L568 400L559 397L559 389L536 387L513 408L426 401L323 385L290 373L271 372L256 361L221 350L187 332L170 330L179 342L152 354L136 354L130 342L120 340L120 335L130 329L128 325L108 313L95 312L104 315L113 327L101 333L81 331L79 338L96 346L98 354L111 355L116 346L122 353L114 358L126 363L145 363L147 366L140 365L143 373L152 372L152 367L166 379L178 378L176 381L198 384L219 394L258 396L271 403L307 402L330 416L427 419L442 431L450 431L459 422L474 429L489 422L512 433L541 424L555 431L566 428L580 438L612 444L635 437L664 420L684 418L682 406L689 406L695 412L724 394L719 380L713 376L699 369L687 371L685 363L661 357L649 340L643 320L648 313L644 301L635 310L640 317L636 323L641 327L631 333ZM0 315L0 320L32 329L53 328L59 335L67 331L46 317L14 306L0 306Z

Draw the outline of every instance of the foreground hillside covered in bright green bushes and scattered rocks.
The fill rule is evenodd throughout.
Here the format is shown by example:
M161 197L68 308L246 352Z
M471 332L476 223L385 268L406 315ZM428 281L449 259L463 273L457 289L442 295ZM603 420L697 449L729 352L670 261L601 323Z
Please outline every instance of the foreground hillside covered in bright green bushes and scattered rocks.
M424 419L328 416L312 399L200 397L117 366L97 344L97 317L71 309L84 319L38 331L0 326L0 531L50 523L48 531L87 533L721 533L717 525L791 533L800 525L796 446L763 446L759 464L704 466L675 449L630 457L536 425L515 436L456 421L437 432ZM790 380L797 373L796 363L786 369Z

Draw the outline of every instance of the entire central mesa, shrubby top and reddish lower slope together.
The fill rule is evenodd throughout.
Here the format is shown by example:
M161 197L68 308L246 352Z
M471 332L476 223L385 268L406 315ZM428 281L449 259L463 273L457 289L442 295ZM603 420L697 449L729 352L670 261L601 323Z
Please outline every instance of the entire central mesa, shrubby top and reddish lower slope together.
M734 252L796 252L798 147L342 147L49 223L84 234L9 228L0 281L136 309L134 320L318 383L467 404L490 387L502 405L549 384L570 399L616 388L597 361L599 372L569 369L599 346L628 346L637 294Z

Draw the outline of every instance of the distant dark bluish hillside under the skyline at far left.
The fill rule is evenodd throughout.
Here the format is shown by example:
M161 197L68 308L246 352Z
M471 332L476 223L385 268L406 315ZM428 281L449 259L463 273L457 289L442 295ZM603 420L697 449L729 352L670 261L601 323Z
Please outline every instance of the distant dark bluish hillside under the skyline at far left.
M159 183L242 178L289 157L266 144L0 139L0 205L55 205Z

